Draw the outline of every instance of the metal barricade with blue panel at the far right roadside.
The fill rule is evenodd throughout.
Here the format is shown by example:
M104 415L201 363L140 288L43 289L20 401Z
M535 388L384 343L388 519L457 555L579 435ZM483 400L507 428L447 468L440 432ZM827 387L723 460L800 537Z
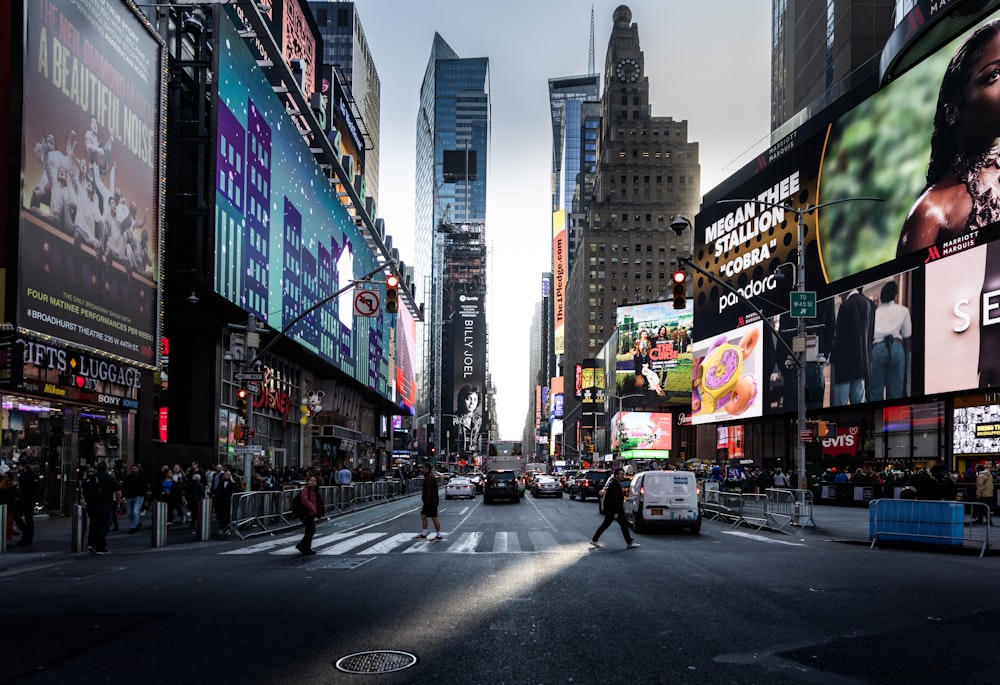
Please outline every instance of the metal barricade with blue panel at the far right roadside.
M966 515L971 514L971 519ZM990 547L990 507L981 502L877 499L868 504L868 532L874 549L879 542ZM976 518L984 523L976 523Z

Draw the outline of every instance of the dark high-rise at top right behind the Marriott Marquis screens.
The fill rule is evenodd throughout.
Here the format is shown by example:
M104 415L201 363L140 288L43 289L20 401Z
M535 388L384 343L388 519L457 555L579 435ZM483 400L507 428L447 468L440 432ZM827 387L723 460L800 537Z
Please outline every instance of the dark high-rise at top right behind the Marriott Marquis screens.
M864 78L877 70L897 4L900 0L772 0L772 131L793 119L794 128L849 90L856 81L852 74Z

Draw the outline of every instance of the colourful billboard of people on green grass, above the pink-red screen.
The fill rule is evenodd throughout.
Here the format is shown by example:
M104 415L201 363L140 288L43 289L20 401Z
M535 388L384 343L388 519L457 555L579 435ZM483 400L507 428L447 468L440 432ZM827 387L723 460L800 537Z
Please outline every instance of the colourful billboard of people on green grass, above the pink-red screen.
M645 395L657 402L691 402L691 303L618 307L615 387L619 397Z

